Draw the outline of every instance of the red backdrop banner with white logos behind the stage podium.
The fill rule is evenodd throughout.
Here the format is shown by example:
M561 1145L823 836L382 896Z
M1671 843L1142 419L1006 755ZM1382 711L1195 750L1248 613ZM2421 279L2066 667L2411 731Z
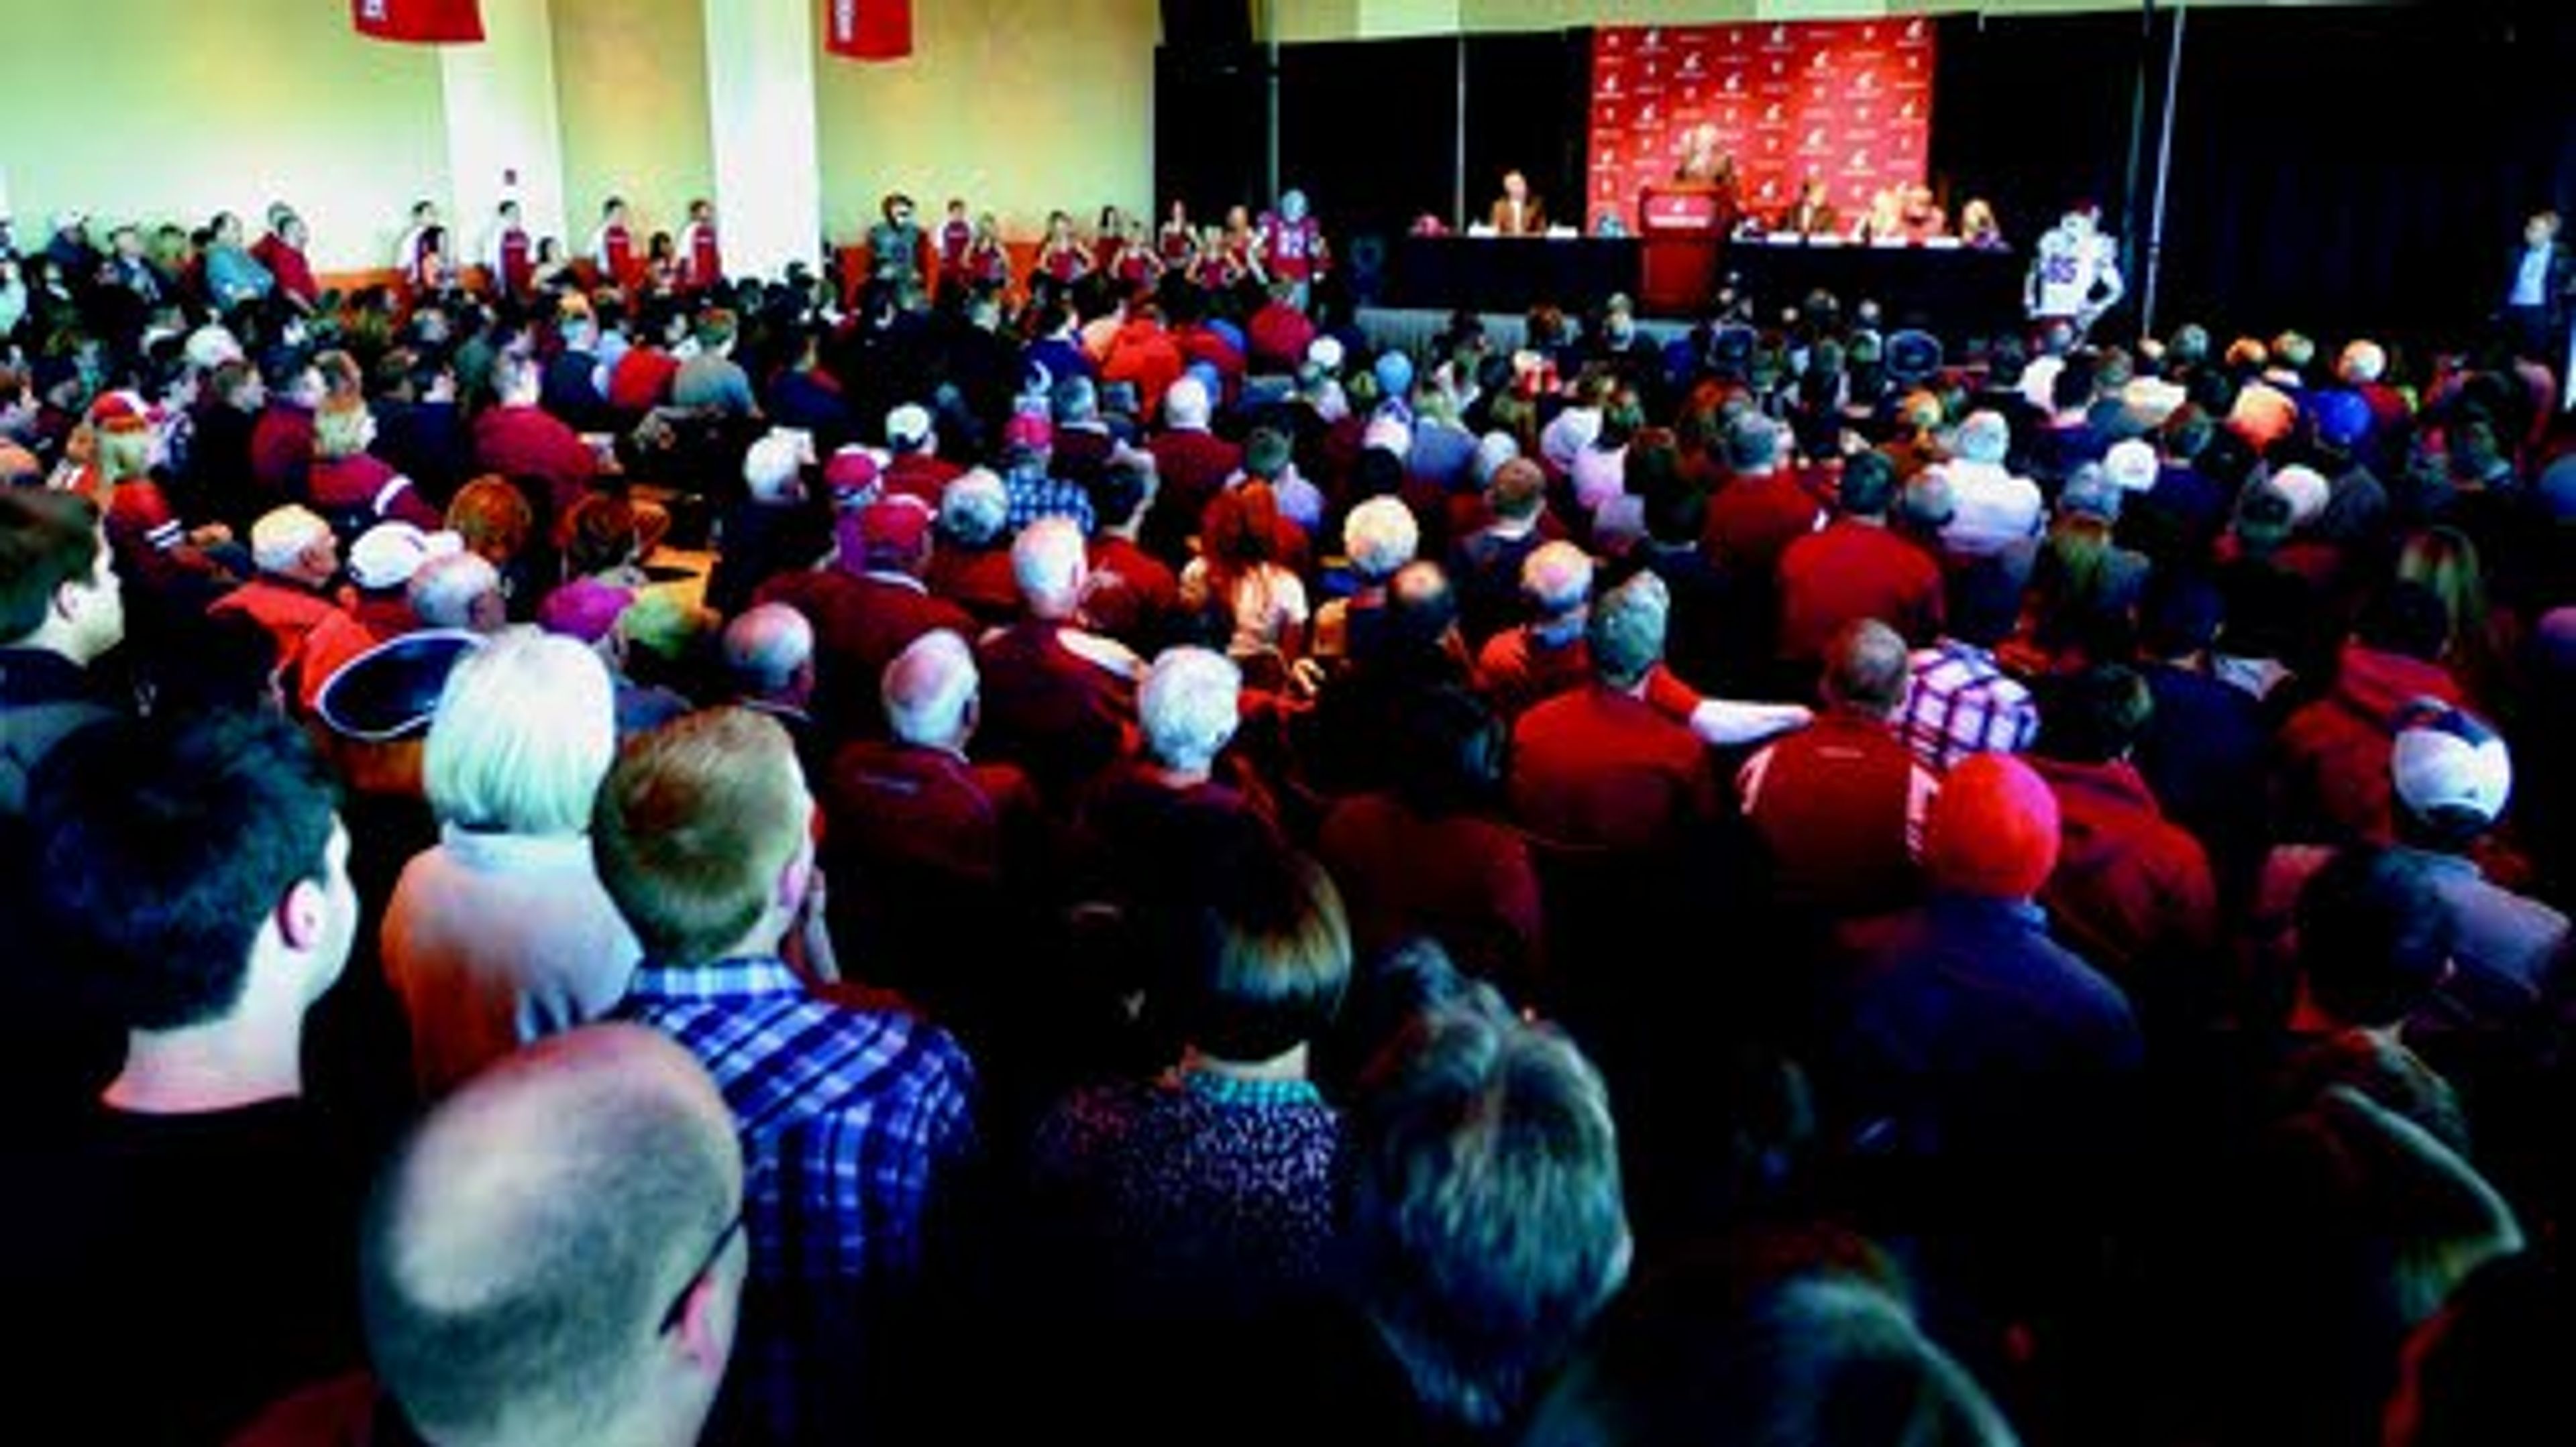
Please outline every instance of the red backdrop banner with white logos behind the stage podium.
M1613 211L1633 229L1638 191L1672 183L1695 139L1734 157L1747 211L1785 211L1814 175L1850 227L1880 188L1924 180L1932 21L1597 31L1587 227Z

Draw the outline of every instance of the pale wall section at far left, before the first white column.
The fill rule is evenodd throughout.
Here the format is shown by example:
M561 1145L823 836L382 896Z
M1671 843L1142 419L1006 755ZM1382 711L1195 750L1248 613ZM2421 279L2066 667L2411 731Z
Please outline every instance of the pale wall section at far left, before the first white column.
M8 203L23 239L80 206L206 224L270 201L322 270L386 265L412 201L448 201L438 51L361 39L317 0L8 5Z

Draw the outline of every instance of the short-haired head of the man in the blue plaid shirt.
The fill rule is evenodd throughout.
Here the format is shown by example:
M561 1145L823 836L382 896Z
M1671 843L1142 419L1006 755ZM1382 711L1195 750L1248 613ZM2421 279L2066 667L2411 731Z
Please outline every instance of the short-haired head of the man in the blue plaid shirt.
M711 708L618 749L590 811L590 855L644 958L698 966L760 924L809 824L786 729Z

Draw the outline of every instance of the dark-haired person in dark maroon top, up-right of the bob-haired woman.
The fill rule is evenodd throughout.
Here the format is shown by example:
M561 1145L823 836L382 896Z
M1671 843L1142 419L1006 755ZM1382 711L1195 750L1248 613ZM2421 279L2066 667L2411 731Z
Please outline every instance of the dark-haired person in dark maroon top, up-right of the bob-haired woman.
M1510 726L1476 695L1425 693L1386 739L1388 785L1337 801L1316 857L1342 883L1360 958L1430 935L1510 999L1540 973L1540 891L1528 842L1497 819Z

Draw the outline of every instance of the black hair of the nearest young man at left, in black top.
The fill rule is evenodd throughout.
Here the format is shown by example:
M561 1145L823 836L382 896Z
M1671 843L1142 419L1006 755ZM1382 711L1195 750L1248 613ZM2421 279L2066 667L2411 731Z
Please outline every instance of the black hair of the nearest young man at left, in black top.
M273 713L100 724L28 790L49 935L134 1030L240 1004L252 945L299 881L330 881L330 770Z

